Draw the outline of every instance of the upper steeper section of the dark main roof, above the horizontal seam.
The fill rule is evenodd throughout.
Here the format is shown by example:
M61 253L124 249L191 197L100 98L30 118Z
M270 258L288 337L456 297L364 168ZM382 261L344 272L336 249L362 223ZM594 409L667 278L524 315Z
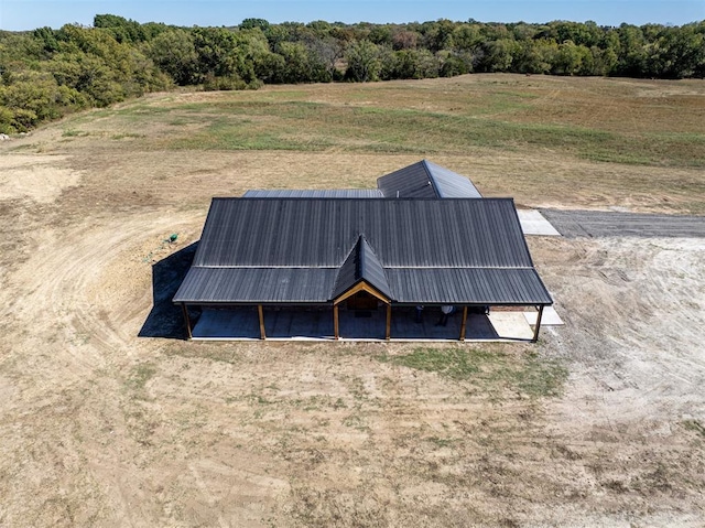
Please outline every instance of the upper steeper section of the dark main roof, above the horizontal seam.
M202 267L335 267L360 235L388 267L531 267L511 198L214 198Z

